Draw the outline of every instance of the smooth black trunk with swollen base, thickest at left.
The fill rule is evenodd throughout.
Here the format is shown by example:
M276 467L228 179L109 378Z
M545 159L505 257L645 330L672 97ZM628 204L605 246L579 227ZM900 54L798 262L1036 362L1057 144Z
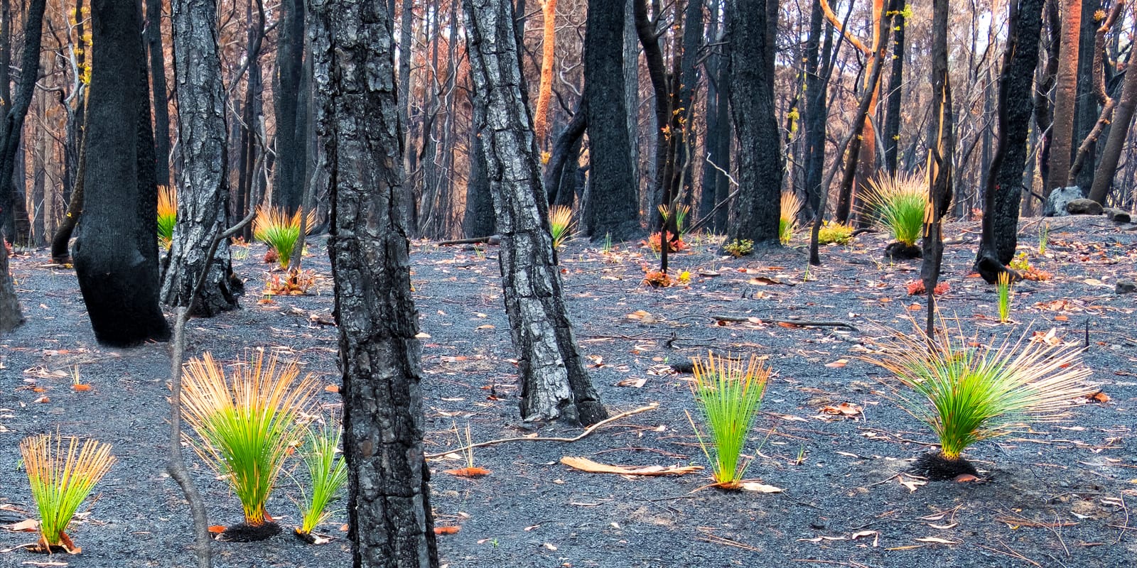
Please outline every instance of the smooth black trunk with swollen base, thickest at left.
M91 8L91 144L75 275L99 343L166 341L169 326L158 306L158 190L142 15L138 6L118 0L94 0Z

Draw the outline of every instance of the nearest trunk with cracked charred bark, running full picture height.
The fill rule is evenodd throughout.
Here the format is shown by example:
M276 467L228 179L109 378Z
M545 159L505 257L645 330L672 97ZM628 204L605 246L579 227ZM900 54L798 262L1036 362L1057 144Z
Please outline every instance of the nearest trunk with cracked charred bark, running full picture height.
M391 16L382 2L309 0L316 132L331 178L355 568L438 568L423 458L422 346L410 293Z

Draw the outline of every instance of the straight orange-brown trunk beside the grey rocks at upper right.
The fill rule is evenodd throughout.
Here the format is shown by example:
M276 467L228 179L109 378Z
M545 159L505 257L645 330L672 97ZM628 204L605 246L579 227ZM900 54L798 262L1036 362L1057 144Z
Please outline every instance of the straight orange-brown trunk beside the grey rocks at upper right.
M1062 187L1070 176L1073 115L1078 95L1078 41L1081 37L1081 0L1062 0L1062 44L1054 87L1054 126L1051 132L1049 177L1044 197Z

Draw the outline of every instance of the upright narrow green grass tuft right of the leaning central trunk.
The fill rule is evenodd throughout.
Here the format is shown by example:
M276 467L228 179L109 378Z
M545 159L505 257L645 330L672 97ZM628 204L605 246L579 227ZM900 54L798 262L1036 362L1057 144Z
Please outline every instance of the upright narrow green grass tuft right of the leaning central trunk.
M703 415L706 436L695 426L690 414L687 419L711 462L715 485L739 488L750 462L742 459L742 449L762 408L770 369L755 356L744 366L741 360L715 357L711 352L705 362L699 358L694 360L694 375L691 390Z

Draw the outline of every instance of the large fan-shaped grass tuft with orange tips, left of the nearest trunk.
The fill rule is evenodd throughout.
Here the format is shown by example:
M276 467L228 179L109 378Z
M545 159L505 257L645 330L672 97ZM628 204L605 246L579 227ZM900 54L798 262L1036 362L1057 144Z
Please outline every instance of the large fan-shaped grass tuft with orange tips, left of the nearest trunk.
M238 362L231 375L209 352L190 359L182 394L182 416L197 434L186 442L229 483L244 510L244 525L231 527L231 540L254 541L280 532L265 503L276 486L284 459L304 440L315 391L312 376L299 378L294 362L275 353L257 353Z

